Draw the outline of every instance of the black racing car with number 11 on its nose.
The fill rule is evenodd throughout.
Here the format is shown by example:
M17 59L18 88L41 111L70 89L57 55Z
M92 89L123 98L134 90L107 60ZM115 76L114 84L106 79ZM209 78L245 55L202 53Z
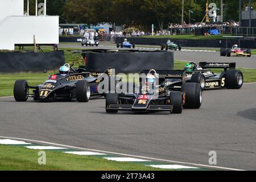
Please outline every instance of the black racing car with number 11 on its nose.
M93 77L84 68L72 68L73 65L64 64L60 67L60 72L48 75L47 80L40 85L30 86L26 80L17 80L14 84L14 98L18 102L27 101L28 97L34 101L68 100L76 98L78 102L88 102L91 96L104 96L99 93L97 86L104 79L101 74ZM112 69L107 69L104 73L111 76ZM32 92L30 92L30 89Z

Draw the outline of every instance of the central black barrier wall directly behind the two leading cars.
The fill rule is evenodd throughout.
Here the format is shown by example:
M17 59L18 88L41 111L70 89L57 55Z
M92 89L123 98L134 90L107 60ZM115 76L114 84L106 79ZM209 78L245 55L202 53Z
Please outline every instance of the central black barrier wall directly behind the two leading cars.
M152 52L109 52L86 53L86 70L104 72L115 68L115 73L140 73L143 69L174 69L174 53Z

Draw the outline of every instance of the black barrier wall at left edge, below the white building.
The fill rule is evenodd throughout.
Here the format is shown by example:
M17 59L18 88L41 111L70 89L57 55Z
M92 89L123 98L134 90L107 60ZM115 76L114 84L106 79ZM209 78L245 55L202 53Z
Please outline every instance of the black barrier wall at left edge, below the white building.
M65 64L64 51L0 52L0 72L41 72Z

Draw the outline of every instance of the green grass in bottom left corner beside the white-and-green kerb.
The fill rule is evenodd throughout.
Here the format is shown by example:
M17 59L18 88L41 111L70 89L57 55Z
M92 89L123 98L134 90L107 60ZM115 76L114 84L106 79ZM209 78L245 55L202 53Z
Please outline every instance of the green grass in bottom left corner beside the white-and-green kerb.
M38 164L39 150L31 150L18 146L0 145L0 171L18 170L54 170L54 171L157 171L158 168L146 167L142 164L112 162L97 156L81 156L47 151L46 165Z

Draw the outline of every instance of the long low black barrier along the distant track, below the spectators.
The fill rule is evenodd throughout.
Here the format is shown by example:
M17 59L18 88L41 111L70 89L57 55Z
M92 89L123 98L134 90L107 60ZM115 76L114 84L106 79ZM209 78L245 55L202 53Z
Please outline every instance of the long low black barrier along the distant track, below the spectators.
M123 42L121 37L115 38L115 42ZM165 44L168 38L127 38L131 43L141 45L154 45L159 46ZM197 39L171 39L173 42L178 43L181 47L226 47L226 40L197 40ZM239 40L228 40L228 47L232 47L234 44L239 44ZM240 40L240 47L242 48L256 48L255 40Z

